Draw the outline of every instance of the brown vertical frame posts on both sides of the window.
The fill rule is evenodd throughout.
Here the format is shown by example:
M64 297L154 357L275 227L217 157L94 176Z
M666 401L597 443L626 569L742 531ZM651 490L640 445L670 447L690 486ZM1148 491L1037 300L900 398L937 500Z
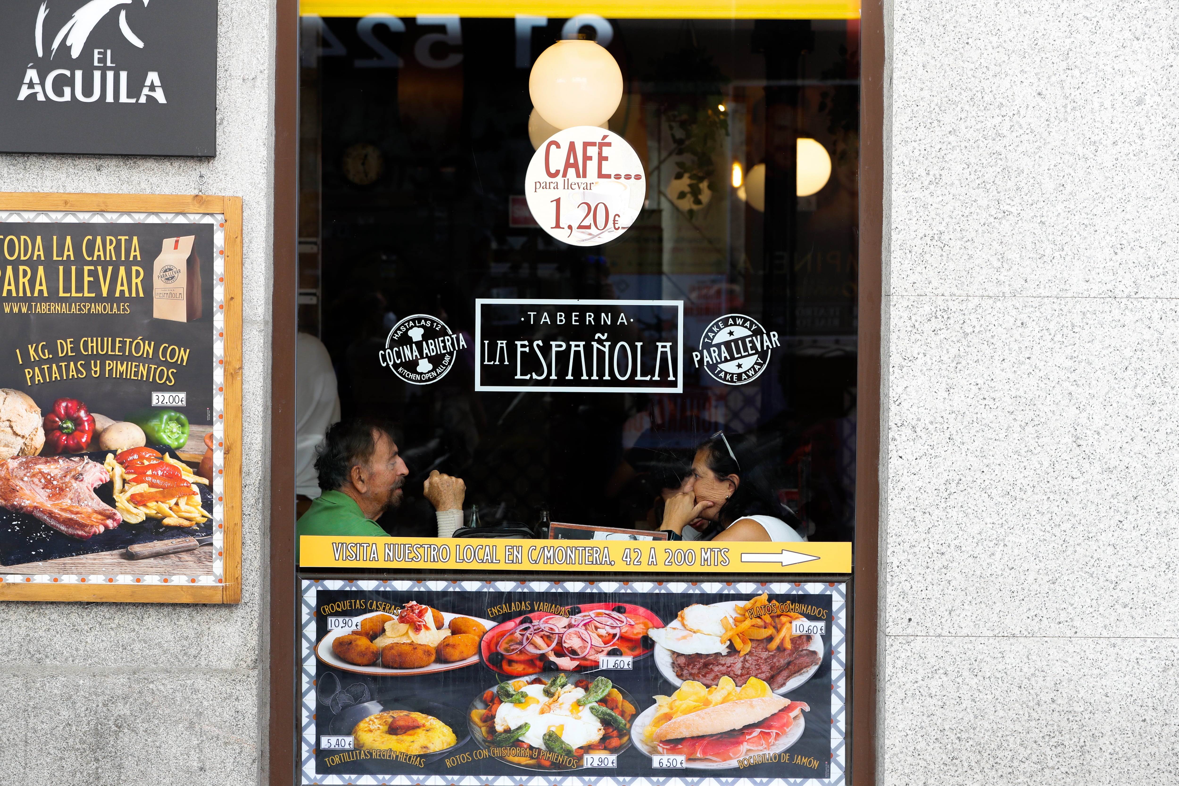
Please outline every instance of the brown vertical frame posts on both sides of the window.
M270 374L268 722L259 770L292 786L298 745L298 594L295 566L295 335L297 331L298 2L276 0L274 290ZM861 8L859 336L856 407L856 541L851 630L851 784L876 782L880 560L881 297L884 220L884 12Z

